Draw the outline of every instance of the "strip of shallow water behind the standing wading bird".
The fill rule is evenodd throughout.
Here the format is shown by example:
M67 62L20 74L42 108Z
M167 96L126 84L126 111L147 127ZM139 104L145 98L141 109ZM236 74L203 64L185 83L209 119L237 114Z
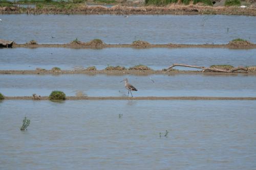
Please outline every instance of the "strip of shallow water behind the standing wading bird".
M246 75L0 75L0 92L6 96L48 96L53 90L61 90L68 96L77 92L88 96L126 96L124 83L120 83L124 78L138 89L132 92L134 96L256 96L256 77Z

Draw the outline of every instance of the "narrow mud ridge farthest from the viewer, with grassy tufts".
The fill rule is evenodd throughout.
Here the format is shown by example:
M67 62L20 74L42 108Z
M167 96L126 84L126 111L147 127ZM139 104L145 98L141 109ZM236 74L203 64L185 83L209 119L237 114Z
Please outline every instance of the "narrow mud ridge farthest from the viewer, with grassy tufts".
M256 44L249 45L230 45L230 44L102 44L102 45L90 45L86 43L67 43L67 44L13 44L13 48L39 48L39 47L49 47L49 48L74 48L74 49L83 49L83 48L231 48L231 49L252 49L256 48Z

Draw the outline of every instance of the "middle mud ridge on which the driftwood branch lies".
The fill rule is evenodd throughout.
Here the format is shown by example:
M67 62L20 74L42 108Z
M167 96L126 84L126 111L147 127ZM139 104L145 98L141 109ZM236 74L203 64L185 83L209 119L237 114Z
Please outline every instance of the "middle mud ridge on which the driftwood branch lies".
M253 72L202 72L202 71L185 71L185 70L136 70L136 69L125 69L125 70L59 70L54 72L52 70L0 70L0 75L71 75L71 74L85 74L85 75L97 75L104 74L108 76L122 76L122 75L136 75L136 76L147 76L147 75L212 75L212 76L223 76L223 75L249 75L256 76L256 70Z

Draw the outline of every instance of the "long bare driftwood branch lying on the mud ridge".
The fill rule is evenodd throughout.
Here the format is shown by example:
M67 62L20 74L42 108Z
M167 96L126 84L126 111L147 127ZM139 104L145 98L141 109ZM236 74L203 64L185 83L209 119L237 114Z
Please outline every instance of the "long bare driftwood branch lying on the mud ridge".
M202 69L202 72L204 71L215 71L215 72L234 72L234 71L238 71L238 70L244 70L247 72L248 68L239 66L236 68L232 68L232 69L221 69L221 68L211 68L211 67L200 67L200 66L196 66L196 65L187 65L187 64L177 64L174 63L173 65L171 65L169 68L167 68L167 70L175 67L175 66L182 66L182 67L191 67L191 68L199 68Z

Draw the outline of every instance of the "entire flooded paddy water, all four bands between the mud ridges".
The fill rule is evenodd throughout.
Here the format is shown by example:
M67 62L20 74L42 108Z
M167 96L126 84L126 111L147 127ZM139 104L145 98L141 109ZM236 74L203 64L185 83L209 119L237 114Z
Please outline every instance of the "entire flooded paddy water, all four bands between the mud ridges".
M255 17L226 15L0 15L1 39L69 43L78 38L124 44L256 43ZM173 63L256 65L255 49L12 48L0 49L0 69L77 69ZM186 68L180 68L186 69ZM0 75L6 96L255 97L256 76ZM256 102L193 100L0 100L0 169L254 169ZM20 131L24 116L31 120ZM165 131L168 135L165 137ZM161 136L160 136L161 133Z

